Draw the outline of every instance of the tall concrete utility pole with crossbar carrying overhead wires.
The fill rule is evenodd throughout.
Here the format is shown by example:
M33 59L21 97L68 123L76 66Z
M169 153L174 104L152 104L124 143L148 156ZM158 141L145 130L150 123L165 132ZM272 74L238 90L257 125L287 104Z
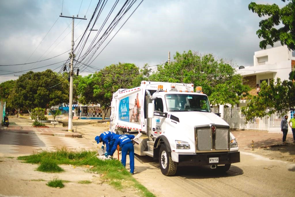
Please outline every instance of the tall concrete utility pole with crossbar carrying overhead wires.
M60 15L60 17L65 17ZM71 49L71 53L70 54L70 58L71 58L71 69L70 69L70 98L69 98L69 125L68 125L68 131L72 132L72 119L73 119L73 113L72 113L72 107L73 107L73 62L74 62L74 58L75 58L75 54L74 54L74 19L83 19L83 20L87 20L86 18L78 18L78 17L74 17L74 15L72 17L65 17L65 18L71 18L72 19L72 49Z

